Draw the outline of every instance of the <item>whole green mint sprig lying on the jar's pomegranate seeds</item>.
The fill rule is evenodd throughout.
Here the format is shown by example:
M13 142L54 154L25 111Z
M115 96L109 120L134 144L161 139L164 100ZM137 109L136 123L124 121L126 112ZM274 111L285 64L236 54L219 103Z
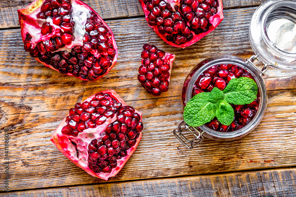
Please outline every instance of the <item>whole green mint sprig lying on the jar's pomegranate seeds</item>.
M231 79L223 91L214 87L211 92L195 95L184 108L184 121L190 126L201 126L215 117L229 126L234 118L235 105L250 104L257 97L258 86L253 79L240 77Z

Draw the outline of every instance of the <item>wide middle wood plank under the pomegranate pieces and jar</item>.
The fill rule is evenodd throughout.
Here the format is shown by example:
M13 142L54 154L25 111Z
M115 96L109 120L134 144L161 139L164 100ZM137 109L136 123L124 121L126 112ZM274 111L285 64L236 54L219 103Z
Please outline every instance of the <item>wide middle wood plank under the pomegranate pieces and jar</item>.
M172 134L182 120L182 84L197 62L219 54L242 58L253 54L248 25L255 9L226 10L225 20L214 32L186 49L165 44L147 28L144 18L107 21L118 44L118 63L108 75L94 82L63 76L37 63L24 51L19 29L1 30L0 129L8 128L11 136L11 189L102 182L76 167L49 139L69 108L104 89L115 89L128 105L141 111L144 124L138 149L110 181L295 165L294 73L268 70L266 114L248 136L227 143L205 139L198 148L187 150ZM176 54L169 91L160 97L147 94L136 78L144 43L154 43ZM0 141L0 147L3 143ZM247 162L250 160L260 163ZM273 161L264 162L267 160Z

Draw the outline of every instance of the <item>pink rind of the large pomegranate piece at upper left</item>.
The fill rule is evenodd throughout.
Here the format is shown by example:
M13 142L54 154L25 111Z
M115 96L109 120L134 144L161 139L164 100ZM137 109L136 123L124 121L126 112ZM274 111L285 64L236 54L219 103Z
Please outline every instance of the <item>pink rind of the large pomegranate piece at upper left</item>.
M45 1L46 0L35 0L29 6L27 6L26 8L19 9L17 11L18 12L18 15L19 15L19 22L20 22L20 27L21 27L21 35L22 35L22 40L23 41L25 41L29 29L33 29L36 32L36 34L41 31L41 27L42 27L43 23L38 22L38 19L37 19L37 15L36 14L38 12L40 12L41 6L43 5L43 3ZM60 0L60 1L62 2L62 0ZM110 27L104 22L104 20L99 16L99 14L97 14L94 11L94 9L92 9L91 7L89 7L87 4L85 4L84 2L79 1L79 0L70 0L70 2L71 2L71 4L77 4L78 6L81 6L83 8L86 8L90 12L94 12L96 14L96 17L98 17L98 21L102 22L102 24L105 27L107 27L107 29L110 31L110 33L112 35L112 45L113 45L113 49L115 50L115 56L113 58L112 64L107 68L107 70L105 71L105 73L102 74L102 75L99 75L98 74L98 76L96 76L96 74L94 74L95 76L92 76L93 77L92 79L89 79L89 78L88 79L81 78L79 75L78 76L75 76L75 77L77 77L77 78L79 78L81 80L95 80L95 79L99 79L99 78L105 76L106 74L108 74L108 72L113 68L113 66L116 64L116 61L117 61L118 49L117 49L117 45L115 43L115 38L114 38L113 32L110 29ZM55 27L54 27L54 30L56 30ZM44 40L46 40L46 38L49 39L49 38L54 38L55 36L60 36L59 29L57 29L56 32L54 32L54 30L53 30L53 32L51 34L47 34L47 35L43 36L44 37ZM82 39L80 39L80 41L81 41L81 43L79 45L82 46L82 44L83 44L82 43ZM77 44L75 44L75 45L77 45ZM73 43L70 44L71 48L74 47L75 45L73 45ZM93 52L93 53L95 53L95 52ZM34 58L38 62L40 62L41 64L44 64L45 66L47 66L47 67L49 67L49 68L51 68L51 69L53 69L55 71L60 72L58 69L55 69L52 65L46 64L45 62L41 61L40 58L38 58L38 57L34 57ZM67 74L69 76L73 76L72 73L64 73L64 74Z

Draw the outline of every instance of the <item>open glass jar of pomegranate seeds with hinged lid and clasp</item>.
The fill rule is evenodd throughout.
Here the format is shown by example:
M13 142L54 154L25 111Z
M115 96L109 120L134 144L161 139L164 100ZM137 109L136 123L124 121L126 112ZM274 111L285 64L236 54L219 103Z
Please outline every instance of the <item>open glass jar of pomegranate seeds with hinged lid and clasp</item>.
M202 142L204 137L218 141L232 141L246 136L258 126L267 107L264 73L268 67L282 71L296 71L296 2L269 0L255 11L249 28L250 44L256 55L246 61L237 56L220 55L198 63L187 75L181 90L182 107L200 92L223 90L233 78L249 77L258 86L257 98L250 104L233 105L234 121L221 124L216 118L202 126L192 127L184 121L173 131L187 148ZM261 61L259 69L253 62ZM183 133L182 133L183 132ZM194 135L187 139L185 132Z

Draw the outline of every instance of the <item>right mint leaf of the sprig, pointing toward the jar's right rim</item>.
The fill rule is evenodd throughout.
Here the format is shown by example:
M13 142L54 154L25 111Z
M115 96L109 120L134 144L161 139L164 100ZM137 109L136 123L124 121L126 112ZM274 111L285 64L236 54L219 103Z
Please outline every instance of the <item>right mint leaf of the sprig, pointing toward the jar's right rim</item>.
M234 105L250 104L256 99L257 92L257 84L248 77L231 79L223 90L224 100Z

